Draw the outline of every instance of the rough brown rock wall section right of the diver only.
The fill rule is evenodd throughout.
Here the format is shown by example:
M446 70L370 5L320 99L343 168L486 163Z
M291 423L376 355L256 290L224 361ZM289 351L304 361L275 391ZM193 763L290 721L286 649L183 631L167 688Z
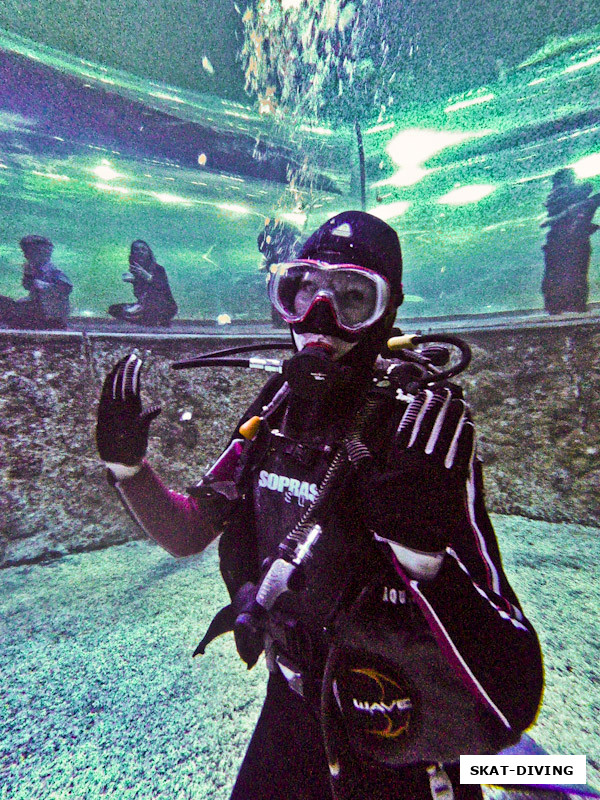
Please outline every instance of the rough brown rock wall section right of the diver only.
M488 506L600 523L600 329L480 331L460 376L478 430Z

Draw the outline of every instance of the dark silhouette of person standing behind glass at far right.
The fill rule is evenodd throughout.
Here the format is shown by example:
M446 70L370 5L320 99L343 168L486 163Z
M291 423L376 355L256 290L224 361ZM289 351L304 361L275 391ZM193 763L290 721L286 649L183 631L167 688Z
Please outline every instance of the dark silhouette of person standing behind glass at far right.
M552 177L548 219L541 225L548 228L542 294L549 314L587 311L590 237L599 227L592 220L600 205L600 193L592 191L591 183L575 180L572 169L559 169Z

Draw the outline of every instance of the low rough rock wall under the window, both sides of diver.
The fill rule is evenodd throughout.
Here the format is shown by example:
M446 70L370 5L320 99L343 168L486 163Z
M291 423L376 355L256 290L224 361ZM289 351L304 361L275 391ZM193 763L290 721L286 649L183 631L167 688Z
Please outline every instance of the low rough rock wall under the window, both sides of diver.
M461 376L479 433L488 506L506 514L600 520L600 329L566 325L464 334ZM134 347L143 396L160 402L148 457L184 489L219 455L264 373L174 372L174 360L235 344L208 337L0 333L0 566L142 538L95 452L106 372Z

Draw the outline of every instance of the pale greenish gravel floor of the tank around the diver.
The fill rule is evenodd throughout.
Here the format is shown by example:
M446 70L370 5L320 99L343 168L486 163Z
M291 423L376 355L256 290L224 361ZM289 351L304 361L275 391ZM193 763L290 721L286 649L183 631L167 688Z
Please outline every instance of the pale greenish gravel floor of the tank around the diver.
M599 785L600 531L494 524L545 655L530 734L551 753L585 753ZM0 798L226 800L266 682L231 636L192 660L226 602L214 545L175 560L131 542L1 571Z

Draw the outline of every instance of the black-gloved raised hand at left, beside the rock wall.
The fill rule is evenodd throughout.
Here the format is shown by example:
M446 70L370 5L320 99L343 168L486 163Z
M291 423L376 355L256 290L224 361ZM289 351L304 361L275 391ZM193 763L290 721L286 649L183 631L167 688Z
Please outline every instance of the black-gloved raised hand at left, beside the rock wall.
M111 469L114 464L126 467L141 464L148 447L150 423L161 411L160 406L142 409L141 368L142 360L131 353L115 364L104 379L98 405L96 445L100 458Z

